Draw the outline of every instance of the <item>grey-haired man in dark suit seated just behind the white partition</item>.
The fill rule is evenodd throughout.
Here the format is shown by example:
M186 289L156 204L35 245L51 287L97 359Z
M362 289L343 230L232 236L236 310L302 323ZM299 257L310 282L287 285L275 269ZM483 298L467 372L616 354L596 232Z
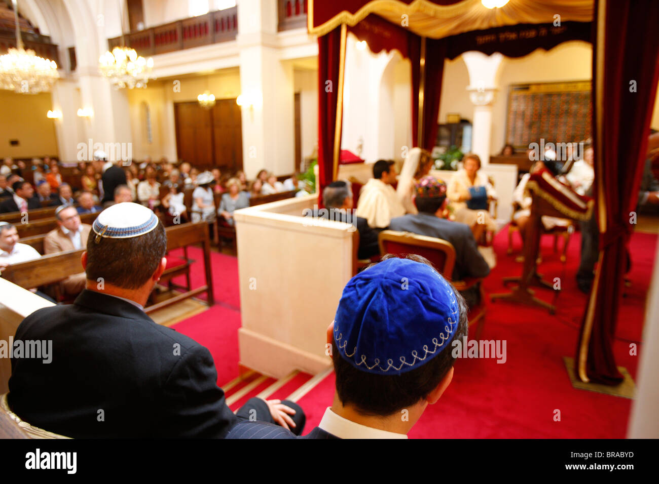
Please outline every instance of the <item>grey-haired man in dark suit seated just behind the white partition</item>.
M337 180L326 186L323 190L323 203L325 209L316 209L314 211L305 209L303 215L312 215L313 217L322 217L354 225L359 232L357 257L359 259L370 259L370 257L380 254L378 234L383 229L372 229L368 227L366 219L355 215L353 191L348 182Z

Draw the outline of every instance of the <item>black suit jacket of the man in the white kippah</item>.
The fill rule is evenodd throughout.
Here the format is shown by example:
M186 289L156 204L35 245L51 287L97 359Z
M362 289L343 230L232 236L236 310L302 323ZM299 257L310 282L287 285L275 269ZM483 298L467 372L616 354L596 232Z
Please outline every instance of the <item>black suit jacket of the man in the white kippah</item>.
M9 404L37 427L76 438L224 437L239 421L210 352L121 299L83 290L26 317L18 339L52 340L51 363L11 360Z

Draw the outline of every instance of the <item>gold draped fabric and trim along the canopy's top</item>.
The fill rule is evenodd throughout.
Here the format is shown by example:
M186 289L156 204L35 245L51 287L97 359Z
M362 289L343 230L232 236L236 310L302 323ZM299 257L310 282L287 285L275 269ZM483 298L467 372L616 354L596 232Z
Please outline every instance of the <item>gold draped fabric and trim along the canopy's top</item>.
M500 9L487 9L480 0L463 0L453 5L437 5L428 0L414 0L409 5L399 0L372 0L355 13L344 10L314 26L314 0L308 0L307 30L309 34L324 36L341 24L353 27L372 13L400 25L402 16L407 15L409 30L418 36L441 39L515 24L590 22L593 11L594 0L511 0ZM440 18L442 21L438 22Z

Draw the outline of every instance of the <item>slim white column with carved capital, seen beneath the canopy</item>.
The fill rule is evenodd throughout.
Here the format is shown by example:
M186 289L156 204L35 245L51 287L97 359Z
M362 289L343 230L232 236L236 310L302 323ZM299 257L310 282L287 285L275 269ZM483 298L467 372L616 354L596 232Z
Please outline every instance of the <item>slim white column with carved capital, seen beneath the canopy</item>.
M498 91L497 73L503 55L494 53L488 56L481 52L465 52L463 59L469 71L469 99L474 103L472 151L480 157L485 166L490 163L492 103Z

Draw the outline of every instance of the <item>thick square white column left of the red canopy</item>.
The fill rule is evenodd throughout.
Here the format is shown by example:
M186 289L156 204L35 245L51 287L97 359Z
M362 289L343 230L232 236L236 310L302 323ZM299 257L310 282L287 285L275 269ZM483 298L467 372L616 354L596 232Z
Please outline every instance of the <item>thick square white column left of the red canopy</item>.
M238 3L243 169L254 178L262 168L275 175L295 165L295 86L293 65L279 58L277 2Z

